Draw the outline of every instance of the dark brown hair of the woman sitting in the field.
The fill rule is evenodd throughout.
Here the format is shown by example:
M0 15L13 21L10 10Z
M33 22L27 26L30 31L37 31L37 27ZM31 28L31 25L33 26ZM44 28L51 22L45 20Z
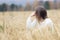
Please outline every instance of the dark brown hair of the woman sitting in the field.
M36 8L35 15L36 15L36 18L38 19L38 21L40 21L40 18L42 18L42 19L47 18L47 11L43 6L38 6Z

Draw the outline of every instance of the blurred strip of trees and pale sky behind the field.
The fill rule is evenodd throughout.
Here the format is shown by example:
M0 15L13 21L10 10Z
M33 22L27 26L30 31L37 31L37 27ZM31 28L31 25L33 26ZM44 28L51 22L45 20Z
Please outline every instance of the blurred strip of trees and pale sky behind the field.
M60 9L60 0L0 0L0 11L34 11L36 6Z

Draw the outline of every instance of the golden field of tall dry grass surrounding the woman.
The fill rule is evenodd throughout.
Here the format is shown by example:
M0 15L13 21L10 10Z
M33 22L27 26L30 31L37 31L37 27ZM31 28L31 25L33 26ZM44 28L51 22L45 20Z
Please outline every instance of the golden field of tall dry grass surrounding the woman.
M26 19L31 13L32 11L0 12L0 40L40 40L38 32L35 32L37 39L33 39L31 34L26 32ZM58 34L56 39L60 40L60 10L48 10L48 17L55 24Z

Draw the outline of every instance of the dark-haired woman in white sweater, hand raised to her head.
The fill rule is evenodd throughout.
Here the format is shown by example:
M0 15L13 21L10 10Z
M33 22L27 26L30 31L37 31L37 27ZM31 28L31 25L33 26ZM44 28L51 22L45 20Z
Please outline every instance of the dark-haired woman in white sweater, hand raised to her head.
M34 16L35 19L32 21ZM26 27L27 29L31 29L45 26L50 26L51 30L53 31L53 22L50 18L48 18L46 9L42 6L38 6L36 11L28 17Z

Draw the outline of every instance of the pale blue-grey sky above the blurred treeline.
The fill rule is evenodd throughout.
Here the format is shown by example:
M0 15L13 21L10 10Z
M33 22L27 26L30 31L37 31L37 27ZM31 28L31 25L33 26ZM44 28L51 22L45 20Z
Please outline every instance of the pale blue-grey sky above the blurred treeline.
M29 1L30 3L33 3L34 0L0 0L0 4L2 3L7 3L7 4L17 4L17 5L25 5L26 2ZM44 1L47 1L47 0L44 0ZM53 0L50 0L50 1L53 1Z

